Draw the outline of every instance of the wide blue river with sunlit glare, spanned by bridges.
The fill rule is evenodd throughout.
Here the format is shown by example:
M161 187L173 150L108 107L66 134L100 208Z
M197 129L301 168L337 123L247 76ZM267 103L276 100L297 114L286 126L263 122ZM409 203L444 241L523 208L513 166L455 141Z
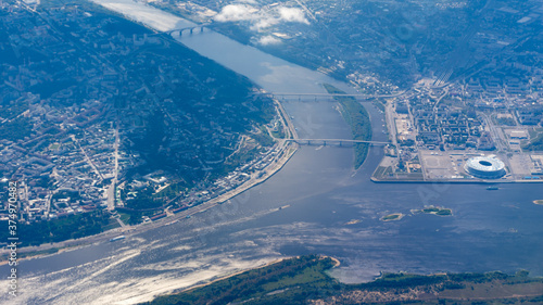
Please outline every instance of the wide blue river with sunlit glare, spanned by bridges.
M189 25L129 0L97 0L161 30ZM197 52L272 92L324 92L320 84L344 84L205 30L182 36ZM283 101L301 138L349 138L331 101ZM383 115L367 105L374 139L386 140ZM541 185L374 183L382 157L370 150L353 170L346 148L303 147L275 176L220 206L190 219L22 262L21 295L4 304L132 304L276 258L325 254L339 258L333 275L344 282L371 280L380 271L515 272L543 276ZM454 215L412 214L441 205ZM286 208L279 208L286 206ZM403 213L399 221L382 216ZM8 266L0 267L8 275ZM4 277L2 277L4 278ZM8 291L8 282L0 282ZM15 301L15 302L14 302Z

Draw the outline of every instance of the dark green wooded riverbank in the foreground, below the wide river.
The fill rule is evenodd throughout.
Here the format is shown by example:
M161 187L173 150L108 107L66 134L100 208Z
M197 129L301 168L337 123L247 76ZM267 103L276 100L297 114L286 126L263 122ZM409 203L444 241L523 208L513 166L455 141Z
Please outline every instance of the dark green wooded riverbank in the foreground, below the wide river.
M514 276L381 274L367 283L344 284L328 276L336 260L315 255L281 259L144 304L437 304L441 300L517 304L543 297L543 279L530 278L527 271Z

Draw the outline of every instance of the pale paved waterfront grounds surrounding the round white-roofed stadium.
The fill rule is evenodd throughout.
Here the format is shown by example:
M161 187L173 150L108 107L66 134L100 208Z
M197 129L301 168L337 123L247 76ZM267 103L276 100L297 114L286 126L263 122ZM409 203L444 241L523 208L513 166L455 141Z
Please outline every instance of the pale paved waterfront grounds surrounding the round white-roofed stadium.
M472 157L494 155L505 164L506 174L497 179L469 175L465 165ZM386 156L375 169L374 182L458 182L458 183L542 183L543 153L495 153L475 150L418 150L409 162Z

